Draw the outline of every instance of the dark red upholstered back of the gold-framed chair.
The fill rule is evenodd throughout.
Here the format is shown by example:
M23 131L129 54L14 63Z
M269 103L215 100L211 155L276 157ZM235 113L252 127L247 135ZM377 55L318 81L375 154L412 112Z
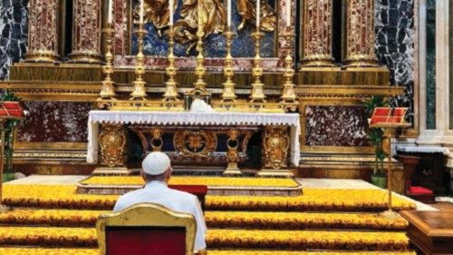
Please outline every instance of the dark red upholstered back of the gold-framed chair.
M107 227L107 255L184 255L186 229Z

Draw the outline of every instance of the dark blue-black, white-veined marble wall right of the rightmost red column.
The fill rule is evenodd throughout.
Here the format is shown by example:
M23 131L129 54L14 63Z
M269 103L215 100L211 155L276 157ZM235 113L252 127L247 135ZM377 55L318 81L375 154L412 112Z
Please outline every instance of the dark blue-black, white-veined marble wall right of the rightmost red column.
M413 121L414 0L376 0L376 52L390 69L390 84L406 86L406 93L390 99L393 106L409 107Z

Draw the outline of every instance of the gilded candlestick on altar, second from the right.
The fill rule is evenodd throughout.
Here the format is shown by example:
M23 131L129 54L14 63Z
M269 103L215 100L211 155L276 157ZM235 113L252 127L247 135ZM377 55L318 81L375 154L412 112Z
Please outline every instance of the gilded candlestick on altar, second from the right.
M255 82L252 83L252 94L250 95L250 106L254 109L263 108L265 104L265 84L261 82L263 65L260 55L261 37L263 37L263 35L264 34L259 31L259 26L256 26L256 32L252 34L252 36L255 37L255 58L254 68L252 69Z

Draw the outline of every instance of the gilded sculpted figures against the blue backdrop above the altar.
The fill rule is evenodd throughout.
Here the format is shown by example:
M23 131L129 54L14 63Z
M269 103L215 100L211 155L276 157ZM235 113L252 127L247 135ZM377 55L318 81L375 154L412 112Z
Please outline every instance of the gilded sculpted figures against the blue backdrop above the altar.
M261 1L260 28L265 32L275 31L277 17L274 8ZM210 34L223 33L226 27L226 5L221 0L202 0L201 21L205 38ZM159 36L169 28L169 0L145 0L145 22L154 25ZM174 1L174 10L178 10L178 1ZM237 13L241 16L241 24L237 29L246 25L256 25L255 0L237 0ZM140 6L133 10L134 23L138 23ZM180 17L175 21L175 41L180 44L191 44L197 41L198 29L198 0L182 0Z

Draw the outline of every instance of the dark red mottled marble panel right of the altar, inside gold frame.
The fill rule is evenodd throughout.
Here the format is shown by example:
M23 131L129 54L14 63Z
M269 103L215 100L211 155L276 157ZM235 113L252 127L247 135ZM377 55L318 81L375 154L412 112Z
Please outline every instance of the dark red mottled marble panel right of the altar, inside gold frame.
M362 106L305 107L305 145L367 146L365 108Z

